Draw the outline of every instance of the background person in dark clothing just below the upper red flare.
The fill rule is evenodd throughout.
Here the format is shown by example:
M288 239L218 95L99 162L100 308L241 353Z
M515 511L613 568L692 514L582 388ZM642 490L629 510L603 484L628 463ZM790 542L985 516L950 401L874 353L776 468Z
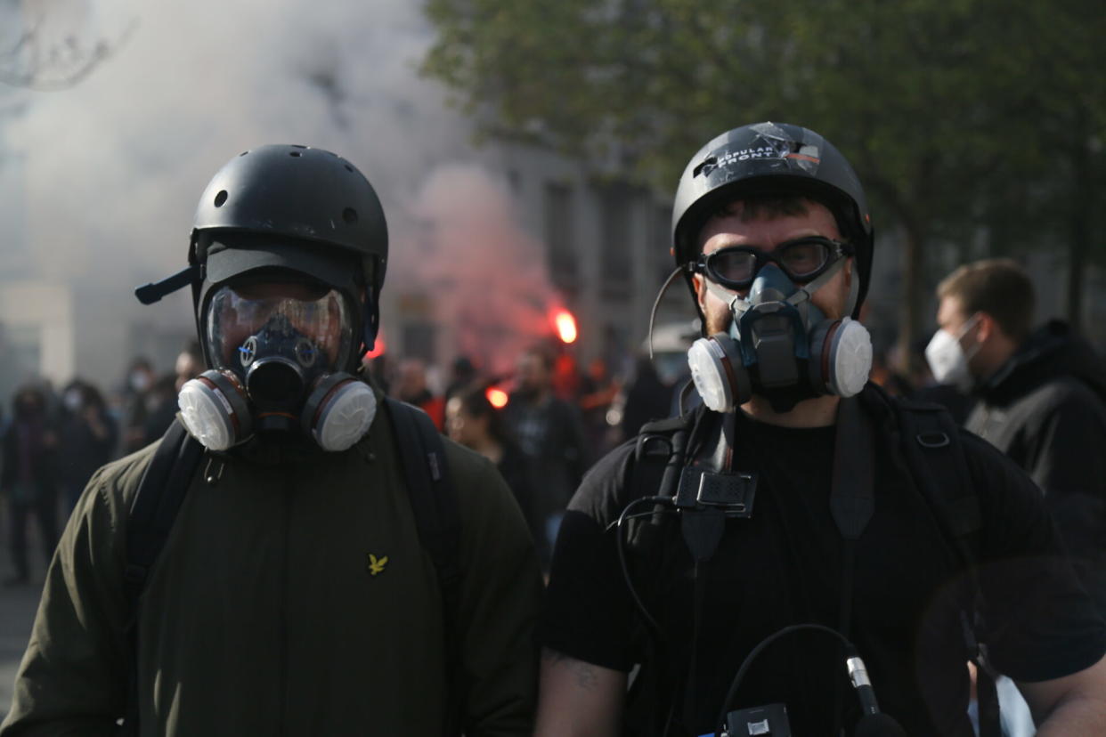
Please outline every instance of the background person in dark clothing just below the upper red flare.
M545 566L552 559L565 505L588 466L580 411L554 394L553 367L553 357L542 348L524 351L504 410L507 425L539 482L533 509L542 528L536 543Z

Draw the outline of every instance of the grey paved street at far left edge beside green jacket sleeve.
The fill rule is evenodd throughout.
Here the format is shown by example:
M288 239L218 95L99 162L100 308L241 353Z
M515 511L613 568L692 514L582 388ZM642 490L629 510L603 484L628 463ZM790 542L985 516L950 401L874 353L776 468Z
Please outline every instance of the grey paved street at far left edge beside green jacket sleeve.
M8 510L0 503L0 580L14 571L11 567L10 519ZM0 719L11 706L11 687L15 681L19 661L31 634L31 624L39 606L39 593L45 575L45 562L39 550L39 538L34 523L29 525L28 543L31 551L31 585L15 588L0 588Z

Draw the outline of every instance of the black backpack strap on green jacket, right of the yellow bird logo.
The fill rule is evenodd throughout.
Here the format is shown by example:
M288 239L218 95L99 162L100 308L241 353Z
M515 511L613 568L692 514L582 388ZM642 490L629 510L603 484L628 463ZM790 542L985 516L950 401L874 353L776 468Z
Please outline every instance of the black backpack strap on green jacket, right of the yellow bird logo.
M420 409L386 398L396 449L407 480L407 494L415 514L419 541L438 575L446 633L446 673L449 684L446 735L460 735L466 678L461 673L457 612L460 608L463 570L458 548L461 519L457 494L446 463L446 446L429 415Z

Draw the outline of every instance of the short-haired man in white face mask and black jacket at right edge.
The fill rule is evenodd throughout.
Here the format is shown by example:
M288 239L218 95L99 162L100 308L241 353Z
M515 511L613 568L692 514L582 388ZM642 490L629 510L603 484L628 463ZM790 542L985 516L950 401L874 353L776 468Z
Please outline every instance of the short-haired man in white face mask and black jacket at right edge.
M940 329L926 350L936 378L974 396L964 427L1041 487L1106 611L1106 361L1060 320L1031 330L1033 283L1013 261L960 266L937 296Z

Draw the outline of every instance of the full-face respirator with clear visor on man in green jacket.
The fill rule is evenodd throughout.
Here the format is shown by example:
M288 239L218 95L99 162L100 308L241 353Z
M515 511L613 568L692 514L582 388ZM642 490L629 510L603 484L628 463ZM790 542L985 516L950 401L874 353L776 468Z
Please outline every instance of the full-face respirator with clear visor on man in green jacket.
M353 336L341 293L303 283L225 285L205 309L212 368L180 389L188 431L213 451L254 434L344 451L368 431L373 390L346 366Z

